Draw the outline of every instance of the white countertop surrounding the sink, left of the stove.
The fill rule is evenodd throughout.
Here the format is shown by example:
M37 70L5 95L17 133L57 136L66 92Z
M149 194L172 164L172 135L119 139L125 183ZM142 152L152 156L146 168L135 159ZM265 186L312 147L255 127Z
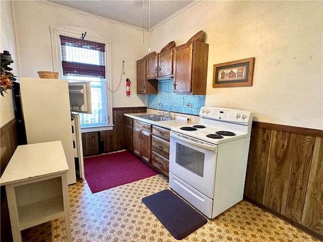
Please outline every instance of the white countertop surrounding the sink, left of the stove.
M182 114L182 113L171 113L171 117L175 119L163 120L163 121L152 121L146 118L138 117L138 115L144 115L144 114L158 114L158 110L147 109L147 112L124 113L124 115L127 117L131 117L133 119L137 119L146 124L156 125L166 129L171 129L172 127L176 127L176 126L185 126L185 125L193 126L198 124L199 122L199 116ZM183 121L183 120L176 119L176 117L179 117L179 116L187 117L189 120Z

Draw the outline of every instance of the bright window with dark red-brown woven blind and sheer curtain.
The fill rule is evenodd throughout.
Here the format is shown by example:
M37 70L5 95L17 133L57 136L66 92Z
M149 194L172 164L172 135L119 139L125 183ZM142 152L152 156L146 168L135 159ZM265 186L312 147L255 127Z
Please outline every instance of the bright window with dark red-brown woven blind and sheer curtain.
M60 35L63 78L91 83L92 114L80 113L81 128L107 125L105 45Z

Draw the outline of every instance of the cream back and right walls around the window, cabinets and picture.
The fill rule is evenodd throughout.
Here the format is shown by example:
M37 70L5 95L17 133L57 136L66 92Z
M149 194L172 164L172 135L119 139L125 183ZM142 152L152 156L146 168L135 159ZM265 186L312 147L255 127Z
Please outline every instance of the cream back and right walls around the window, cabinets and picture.
M251 110L259 122L322 130L322 5L322 1L202 0L153 29L150 49L159 52L172 40L183 44L204 30L209 44L206 105ZM135 82L136 60L147 49L141 30L36 1L14 1L14 13L22 77L52 69L49 25L82 27L111 38L113 89L125 61L126 75L113 94L113 106L145 105L145 95L136 94ZM251 87L212 88L214 64L247 57L255 57ZM132 80L131 97L125 95L126 78Z

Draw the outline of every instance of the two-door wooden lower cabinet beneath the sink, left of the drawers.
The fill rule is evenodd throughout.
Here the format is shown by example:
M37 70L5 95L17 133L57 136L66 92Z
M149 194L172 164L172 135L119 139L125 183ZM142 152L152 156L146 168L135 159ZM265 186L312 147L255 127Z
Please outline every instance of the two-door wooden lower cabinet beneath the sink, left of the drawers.
M151 125L138 120L133 122L133 152L147 163L151 154Z

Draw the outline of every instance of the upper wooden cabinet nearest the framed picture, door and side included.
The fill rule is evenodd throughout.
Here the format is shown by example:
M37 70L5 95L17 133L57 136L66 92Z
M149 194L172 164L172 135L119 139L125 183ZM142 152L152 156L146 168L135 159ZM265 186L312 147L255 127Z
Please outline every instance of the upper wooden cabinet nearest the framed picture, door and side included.
M208 44L193 41L174 48L174 92L206 94Z

